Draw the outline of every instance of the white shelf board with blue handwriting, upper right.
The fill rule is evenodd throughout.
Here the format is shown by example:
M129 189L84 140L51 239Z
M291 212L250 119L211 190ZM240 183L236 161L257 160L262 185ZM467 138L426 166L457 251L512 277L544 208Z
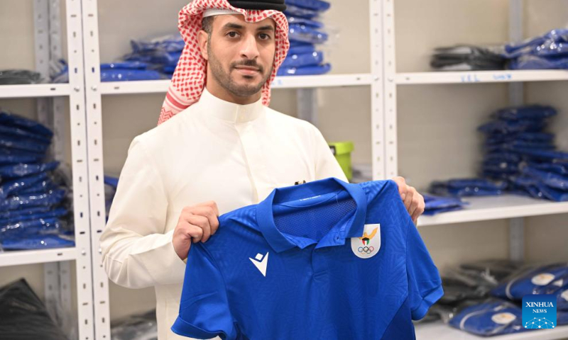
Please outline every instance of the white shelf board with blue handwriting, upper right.
M469 72L415 72L398 73L399 85L413 84L476 84L513 81L568 80L567 70L520 70L520 71L469 71Z

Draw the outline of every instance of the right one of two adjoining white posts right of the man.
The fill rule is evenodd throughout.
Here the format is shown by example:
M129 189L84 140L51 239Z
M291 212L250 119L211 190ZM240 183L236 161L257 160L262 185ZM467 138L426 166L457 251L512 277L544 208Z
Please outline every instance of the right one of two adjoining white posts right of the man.
M396 103L396 57L395 57L395 0L382 0L382 41L383 41L383 86L384 102L384 171L386 178L398 175L398 152L397 152L397 103ZM380 41L380 35L378 35ZM375 42L376 43L376 42ZM373 45L373 48L378 48ZM379 96L381 92L373 95ZM373 112L374 113L374 112ZM373 145L375 146L375 145ZM374 161L375 159L373 159Z

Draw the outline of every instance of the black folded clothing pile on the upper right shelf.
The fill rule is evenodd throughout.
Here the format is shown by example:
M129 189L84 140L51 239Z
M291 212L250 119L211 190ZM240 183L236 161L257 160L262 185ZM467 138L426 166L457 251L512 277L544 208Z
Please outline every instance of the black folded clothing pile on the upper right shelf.
M479 71L505 69L506 61L488 47L456 45L435 49L430 66L439 71Z

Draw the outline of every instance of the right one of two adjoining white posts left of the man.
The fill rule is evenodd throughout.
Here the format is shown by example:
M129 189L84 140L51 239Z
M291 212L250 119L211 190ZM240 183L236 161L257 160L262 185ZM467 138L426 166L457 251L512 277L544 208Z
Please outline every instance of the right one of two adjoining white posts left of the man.
M89 203L92 239L94 294L94 331L97 340L111 339L109 279L102 267L99 244L106 210L102 149L101 74L99 57L99 17L97 0L82 0L83 43L85 62L85 103L89 149Z

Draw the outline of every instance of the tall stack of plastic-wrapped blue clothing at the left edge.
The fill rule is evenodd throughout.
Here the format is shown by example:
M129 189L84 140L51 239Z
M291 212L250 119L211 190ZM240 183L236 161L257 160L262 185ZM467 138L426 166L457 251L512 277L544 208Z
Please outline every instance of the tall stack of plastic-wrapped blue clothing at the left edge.
M0 249L73 246L70 188L45 162L53 132L40 123L0 111Z

